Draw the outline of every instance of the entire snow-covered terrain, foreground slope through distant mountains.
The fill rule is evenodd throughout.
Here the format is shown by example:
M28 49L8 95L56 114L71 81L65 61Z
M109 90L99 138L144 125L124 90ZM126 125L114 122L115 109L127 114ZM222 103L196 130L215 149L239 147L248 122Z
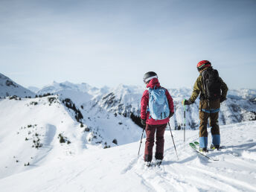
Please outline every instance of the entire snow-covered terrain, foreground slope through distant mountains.
M231 90L222 103L225 148L210 151L219 160L211 161L188 146L198 141L198 100L187 108L184 143L183 131L174 127L183 126L180 101L191 89L171 89L179 160L167 129L164 161L148 168L144 142L137 159L142 129L130 117L139 116L144 88L64 82L24 98L35 95L2 74L0 79L0 191L256 191L256 90ZM54 95L42 97L48 92Z

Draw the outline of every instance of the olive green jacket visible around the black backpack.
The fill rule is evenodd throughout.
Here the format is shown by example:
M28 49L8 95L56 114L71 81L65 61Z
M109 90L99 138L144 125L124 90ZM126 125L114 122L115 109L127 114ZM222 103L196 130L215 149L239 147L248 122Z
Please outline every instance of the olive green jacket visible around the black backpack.
M202 69L202 71L205 71L207 68ZM199 94L204 94L204 90L203 90L203 82L202 82L202 71L200 71L200 75L199 77L197 77L196 83L193 86L193 92L191 95L191 102L193 103L196 98L199 96ZM228 93L228 86L224 83L224 81L222 80L222 78L220 78L220 82L221 82L221 97L226 97L227 93Z

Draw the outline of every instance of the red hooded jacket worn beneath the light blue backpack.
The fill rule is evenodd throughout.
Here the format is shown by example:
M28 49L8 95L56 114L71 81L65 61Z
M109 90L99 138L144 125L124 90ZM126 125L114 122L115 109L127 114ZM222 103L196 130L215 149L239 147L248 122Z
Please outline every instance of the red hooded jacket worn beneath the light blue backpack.
M147 84L147 88L154 88L154 87L160 87L159 80L154 78L150 80L150 83ZM169 104L169 109L170 112L174 112L174 107L173 107L173 98L170 96L170 93L168 92L167 89L165 89L165 95L167 96L168 104ZM167 124L169 122L169 118L165 118L163 120L155 120L150 117L150 112L147 112L147 106L149 103L149 92L148 90L145 90L142 97L141 97L141 119L147 119L146 124L150 125L159 125L159 124Z

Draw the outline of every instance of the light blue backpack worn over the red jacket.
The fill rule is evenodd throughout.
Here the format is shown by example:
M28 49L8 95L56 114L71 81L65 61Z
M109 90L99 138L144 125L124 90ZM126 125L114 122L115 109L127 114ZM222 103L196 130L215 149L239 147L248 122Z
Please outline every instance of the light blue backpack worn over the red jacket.
M149 92L149 103L147 111L150 112L150 117L155 120L162 120L168 118L170 115L169 104L165 95L164 88L147 88Z

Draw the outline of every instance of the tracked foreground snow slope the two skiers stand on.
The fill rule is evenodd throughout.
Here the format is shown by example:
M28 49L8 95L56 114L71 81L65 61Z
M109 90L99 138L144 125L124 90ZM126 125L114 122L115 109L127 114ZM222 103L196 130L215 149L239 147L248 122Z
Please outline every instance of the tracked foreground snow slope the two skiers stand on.
M225 149L211 151L211 161L183 143L183 132L165 132L161 167L145 167L137 159L139 141L109 149L84 150L77 156L0 179L1 191L256 191L256 122L220 127ZM187 130L187 141L198 131ZM211 138L211 137L210 137ZM209 139L210 139L209 138ZM138 138L139 139L139 138ZM41 149L39 149L41 150ZM13 185L15 184L15 185Z

